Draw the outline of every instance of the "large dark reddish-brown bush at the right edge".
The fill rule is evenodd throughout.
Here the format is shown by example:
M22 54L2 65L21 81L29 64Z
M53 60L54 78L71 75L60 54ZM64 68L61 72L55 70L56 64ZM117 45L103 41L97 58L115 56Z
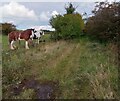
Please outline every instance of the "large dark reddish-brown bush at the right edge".
M117 40L120 31L120 3L96 3L94 16L88 19L86 31L89 36L101 41Z

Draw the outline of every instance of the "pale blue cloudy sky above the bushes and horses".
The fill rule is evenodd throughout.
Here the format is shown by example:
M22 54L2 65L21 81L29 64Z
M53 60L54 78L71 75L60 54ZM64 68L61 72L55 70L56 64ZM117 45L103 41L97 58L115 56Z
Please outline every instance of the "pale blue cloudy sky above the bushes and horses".
M38 1L6 1L0 3L0 23L8 22L16 25L17 29L43 28L51 29L49 20L57 14L65 14L65 5L68 2L38 2ZM18 0L19 1L19 0ZM87 0L86 0L87 1ZM72 2L77 7L76 12L88 16L94 9L94 2Z

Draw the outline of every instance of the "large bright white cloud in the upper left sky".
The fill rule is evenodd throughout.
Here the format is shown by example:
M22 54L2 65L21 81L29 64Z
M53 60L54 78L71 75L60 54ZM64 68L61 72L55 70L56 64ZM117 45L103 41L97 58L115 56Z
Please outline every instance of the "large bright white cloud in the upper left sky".
M30 19L37 20L37 16L33 10L26 8L17 2L10 2L0 7L0 12L2 12L2 18L20 18L20 19Z

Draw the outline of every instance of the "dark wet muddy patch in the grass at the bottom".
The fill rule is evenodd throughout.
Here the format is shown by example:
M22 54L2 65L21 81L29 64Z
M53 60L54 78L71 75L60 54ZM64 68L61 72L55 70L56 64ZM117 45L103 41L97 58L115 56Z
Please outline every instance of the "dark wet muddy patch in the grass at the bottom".
M25 89L33 89L35 99L55 99L58 96L59 83L55 81L39 82L34 78L27 78L12 87L12 94L20 95Z

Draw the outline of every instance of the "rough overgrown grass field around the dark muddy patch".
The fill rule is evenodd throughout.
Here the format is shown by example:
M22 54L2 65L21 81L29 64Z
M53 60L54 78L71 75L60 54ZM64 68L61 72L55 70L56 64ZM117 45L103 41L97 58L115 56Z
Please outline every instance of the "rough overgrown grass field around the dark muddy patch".
M49 35L29 50L11 51L3 36L3 98L34 98L33 90L11 96L10 85L34 76L38 81L58 81L58 99L118 99L114 47L87 38L51 41ZM25 92L28 92L27 94ZM33 95L32 95L33 94ZM27 96L27 97L26 97Z

